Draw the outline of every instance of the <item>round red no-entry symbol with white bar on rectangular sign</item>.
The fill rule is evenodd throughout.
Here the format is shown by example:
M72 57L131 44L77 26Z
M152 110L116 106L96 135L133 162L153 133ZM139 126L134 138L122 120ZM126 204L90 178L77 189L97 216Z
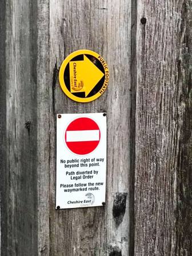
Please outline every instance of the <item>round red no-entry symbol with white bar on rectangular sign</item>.
M99 144L100 138L101 131L99 126L93 119L87 117L75 119L67 126L65 131L67 147L78 155L86 155L95 150Z

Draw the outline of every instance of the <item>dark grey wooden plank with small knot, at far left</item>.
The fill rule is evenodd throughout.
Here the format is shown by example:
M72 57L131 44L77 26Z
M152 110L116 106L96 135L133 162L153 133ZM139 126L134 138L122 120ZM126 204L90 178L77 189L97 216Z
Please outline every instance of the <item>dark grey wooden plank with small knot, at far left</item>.
M37 255L37 3L6 1L6 247Z

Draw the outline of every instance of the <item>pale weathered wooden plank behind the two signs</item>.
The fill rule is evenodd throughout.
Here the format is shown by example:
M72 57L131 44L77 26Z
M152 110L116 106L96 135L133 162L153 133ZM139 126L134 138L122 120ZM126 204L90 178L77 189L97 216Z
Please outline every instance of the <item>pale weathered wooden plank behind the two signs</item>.
M128 252L130 12L130 1L50 1L50 255ZM102 97L86 104L67 98L57 79L63 59L78 49L97 51L110 68L109 88ZM108 126L106 206L55 211L55 114L100 111L107 112Z

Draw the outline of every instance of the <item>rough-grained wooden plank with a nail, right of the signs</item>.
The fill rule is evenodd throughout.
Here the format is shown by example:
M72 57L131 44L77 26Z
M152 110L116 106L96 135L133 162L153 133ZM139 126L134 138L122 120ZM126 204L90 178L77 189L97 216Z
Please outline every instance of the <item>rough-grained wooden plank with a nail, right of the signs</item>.
M134 255L191 255L191 1L137 7Z

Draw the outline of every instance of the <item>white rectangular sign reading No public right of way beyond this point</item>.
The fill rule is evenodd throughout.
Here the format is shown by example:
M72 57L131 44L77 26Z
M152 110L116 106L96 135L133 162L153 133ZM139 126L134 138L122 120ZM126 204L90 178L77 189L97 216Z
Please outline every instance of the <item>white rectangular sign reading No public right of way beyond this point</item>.
M106 113L57 115L56 209L102 206Z

